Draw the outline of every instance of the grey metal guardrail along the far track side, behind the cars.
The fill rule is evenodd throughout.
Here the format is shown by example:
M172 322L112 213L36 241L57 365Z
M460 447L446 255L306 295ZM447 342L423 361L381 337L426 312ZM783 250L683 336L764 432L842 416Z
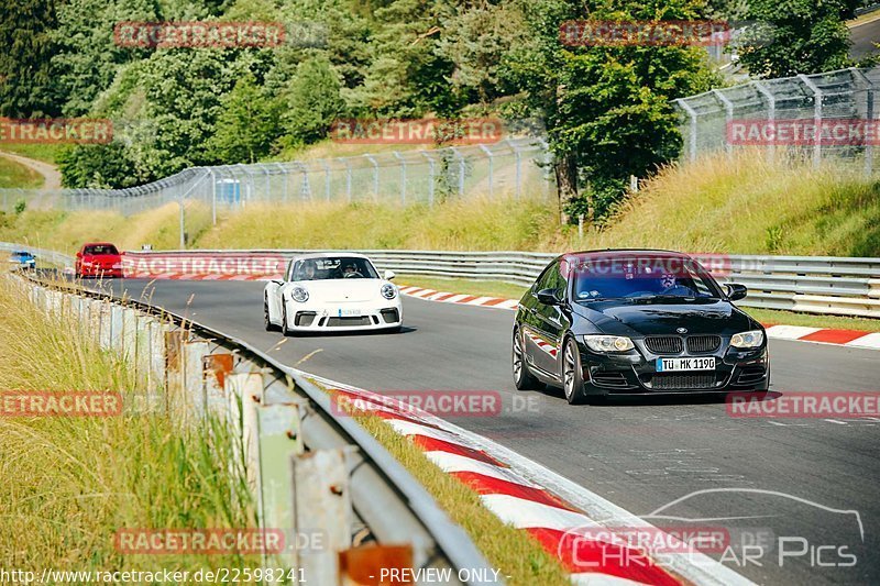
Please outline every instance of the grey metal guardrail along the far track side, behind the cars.
M162 255L278 254L306 250L163 251ZM501 280L531 285L557 255L537 252L359 251L381 269L437 277ZM150 254L139 252L139 254ZM806 313L880 318L880 258L843 256L713 255L722 283L741 283L749 295L739 305Z

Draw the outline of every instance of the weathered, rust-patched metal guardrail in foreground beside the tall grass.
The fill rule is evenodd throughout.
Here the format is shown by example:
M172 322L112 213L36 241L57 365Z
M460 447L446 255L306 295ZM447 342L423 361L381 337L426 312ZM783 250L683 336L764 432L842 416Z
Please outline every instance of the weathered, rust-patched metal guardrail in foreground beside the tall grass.
M483 582L483 576L493 575L491 566L464 530L449 519L409 472L353 418L336 416L330 396L304 373L280 364L246 342L162 308L112 297L108 292L50 283L38 274L28 274L26 278L32 285L32 299L47 310L52 307L75 308L74 316L96 328L92 333L107 340L107 345L118 346L133 361L135 369L136 365L143 364L144 371L153 372L157 362L153 355L153 340L158 340L156 345L162 347L160 354L164 358L158 361L162 367L173 362L172 355L175 356L174 361L180 363L177 384L187 395L196 397L193 400L201 406L201 410L209 409L212 401L229 403L231 395L239 396L240 412L230 417L230 420L241 425L239 431L249 464L249 482L254 474L252 471L256 471L252 486L255 488L261 528L320 529L330 533L327 538L329 546L341 541L344 549L356 546L351 543L354 533L351 528L361 524L381 544L410 544L416 568L451 568L449 584L488 584ZM132 325L125 325L129 323ZM162 335L165 332L176 334L179 343L166 345L162 342L167 338ZM150 347L145 352L148 358L141 355L141 344ZM172 345L176 350L173 351ZM223 362L211 358L223 355L229 356L228 371L224 373L227 386L230 386L233 377L244 377L237 379L241 387L227 397L223 397L226 387L212 391L206 383L211 368L209 365ZM250 425L249 420L252 420ZM248 441L249 433L245 430L249 428L251 434L256 435L255 442ZM304 447L307 450L305 455ZM331 453L344 454L337 457L336 466L332 463L323 466L321 462L314 464L321 460L319 454ZM297 461L305 462L300 466L305 466L310 476L298 476ZM332 476L333 473L336 476ZM332 477L327 477L328 474ZM307 482L297 484L297 477ZM301 495L298 496L298 491ZM324 498L331 493L346 494L358 523L351 520L348 523L337 522L332 513L339 509L338 506L308 500L308 497L319 493L326 493ZM304 501L309 507L302 507ZM295 502L300 506L295 506ZM297 524L297 520L302 522L304 515L318 524ZM338 534L336 541L333 534ZM336 551L329 553L333 556L337 554ZM319 578L317 583L338 581L336 568L328 570L334 563L328 564L326 559L310 563L304 563L301 559L295 561L293 567L308 566L316 571ZM469 572L461 574L465 576L462 578L459 571L465 568ZM492 584L498 582L493 581Z

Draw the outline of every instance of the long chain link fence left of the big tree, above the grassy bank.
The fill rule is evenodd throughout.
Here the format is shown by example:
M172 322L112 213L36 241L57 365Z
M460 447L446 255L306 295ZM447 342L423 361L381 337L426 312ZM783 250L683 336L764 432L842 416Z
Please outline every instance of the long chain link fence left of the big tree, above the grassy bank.
M542 139L507 139L493 144L399 151L358 156L193 167L128 189L0 189L0 210L110 210L124 215L168 202L202 202L218 210L250 203L314 201L416 202L503 194L547 197L550 155Z

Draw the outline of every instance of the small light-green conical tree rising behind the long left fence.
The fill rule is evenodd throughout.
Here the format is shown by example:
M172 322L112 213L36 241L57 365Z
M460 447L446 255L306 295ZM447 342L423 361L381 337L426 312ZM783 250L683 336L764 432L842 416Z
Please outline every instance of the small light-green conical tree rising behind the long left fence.
M277 108L250 73L220 99L220 114L210 140L213 158L255 163L270 152L279 132Z

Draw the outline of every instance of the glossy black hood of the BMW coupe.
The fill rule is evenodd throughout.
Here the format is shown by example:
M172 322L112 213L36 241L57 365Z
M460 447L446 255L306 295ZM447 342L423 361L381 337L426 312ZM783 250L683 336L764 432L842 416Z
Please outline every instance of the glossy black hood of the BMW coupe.
M579 303L575 308L603 332L619 335L733 334L755 327L751 318L719 299L660 303L609 300Z

